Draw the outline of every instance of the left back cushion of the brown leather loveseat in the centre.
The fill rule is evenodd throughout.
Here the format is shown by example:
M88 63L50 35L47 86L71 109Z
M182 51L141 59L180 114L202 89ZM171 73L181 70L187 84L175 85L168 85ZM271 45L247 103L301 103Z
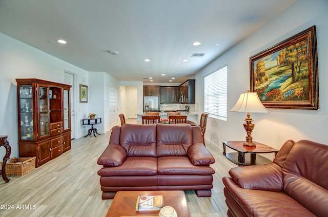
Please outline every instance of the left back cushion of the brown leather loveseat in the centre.
M119 144L127 156L156 156L156 125L124 124Z

